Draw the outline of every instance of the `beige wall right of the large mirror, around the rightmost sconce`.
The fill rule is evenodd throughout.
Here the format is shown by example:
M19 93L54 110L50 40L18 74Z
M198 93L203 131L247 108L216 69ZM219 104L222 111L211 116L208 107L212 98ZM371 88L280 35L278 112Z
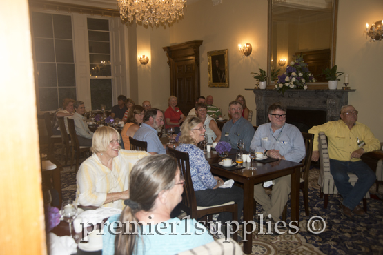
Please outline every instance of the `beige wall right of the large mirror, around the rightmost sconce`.
M380 141L383 141L383 41L370 43L362 33L367 22L371 25L383 19L382 10L382 0L340 0L336 52L338 69L349 74L351 88L356 89L350 93L348 103L359 110L358 121L368 125Z

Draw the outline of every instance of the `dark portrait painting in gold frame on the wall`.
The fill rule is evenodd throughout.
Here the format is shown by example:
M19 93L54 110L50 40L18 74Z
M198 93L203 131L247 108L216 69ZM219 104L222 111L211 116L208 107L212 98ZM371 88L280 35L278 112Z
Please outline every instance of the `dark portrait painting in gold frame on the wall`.
M228 49L208 52L209 87L228 88Z

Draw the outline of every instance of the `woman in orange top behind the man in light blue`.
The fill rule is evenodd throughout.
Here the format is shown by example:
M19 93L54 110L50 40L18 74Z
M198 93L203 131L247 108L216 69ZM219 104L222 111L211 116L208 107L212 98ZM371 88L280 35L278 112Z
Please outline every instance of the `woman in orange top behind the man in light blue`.
M144 119L145 109L141 105L135 105L130 110L128 119L121 131L122 141L124 141L125 150L130 150L129 136L135 136Z

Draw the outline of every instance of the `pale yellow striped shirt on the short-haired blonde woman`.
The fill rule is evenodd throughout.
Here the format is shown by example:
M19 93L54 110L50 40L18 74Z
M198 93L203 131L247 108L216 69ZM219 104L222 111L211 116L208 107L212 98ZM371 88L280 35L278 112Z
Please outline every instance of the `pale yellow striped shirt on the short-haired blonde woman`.
M106 194L128 190L130 170L139 159L148 155L150 155L148 152L120 150L119 155L113 159L110 171L101 163L97 154L93 153L81 164L77 172L77 204L122 209L124 207L122 200L104 205Z

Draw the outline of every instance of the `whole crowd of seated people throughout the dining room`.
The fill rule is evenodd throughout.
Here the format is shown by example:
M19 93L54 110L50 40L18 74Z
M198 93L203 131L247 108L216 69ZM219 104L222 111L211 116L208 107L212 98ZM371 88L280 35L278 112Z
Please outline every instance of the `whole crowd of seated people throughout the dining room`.
M247 120L249 109L241 95L228 103L230 119L222 130L215 120L222 117L222 110L213 105L213 96L207 96L206 99L199 96L195 108L190 110L187 117L177 108L175 96L169 97L169 107L165 112L151 108L149 101L144 101L141 106L125 96L119 96L118 99L118 104L112 108L112 116L121 117L126 122L121 131L123 141L117 130L107 126L98 128L94 134L90 132L82 116L85 112L82 101L65 101L65 110L56 113L57 116L72 116L76 132L82 137L81 143L92 146L92 156L81 164L77 173L77 203L119 208L121 214L110 217L110 222L140 221L146 232L150 232L150 223L168 224L161 227L163 235L156 232L154 235L121 234L123 232L113 235L106 232L103 254L175 254L213 241L206 234L205 227L195 221L197 219L187 221L170 216L181 202L184 179L175 159L166 155L166 145L161 143L157 134L163 125L165 128L174 128L175 134L181 133L176 150L189 154L190 176L197 205L207 207L229 201L237 203L238 218L233 219L230 212L222 212L217 218L222 225L226 221L240 222L244 190L236 185L218 188L224 184L224 180L213 176L204 152L197 146L205 139L205 134L209 143L225 141L233 149L237 149L237 141L242 139L245 150L254 149L275 159L301 162L306 156L302 133L295 125L286 123L287 108L282 103L269 106L270 122L259 125L255 131ZM308 131L315 134L313 161L319 158L318 133L323 131L328 136L331 174L343 198L341 212L349 218L353 218L353 214L366 214L359 203L375 182L374 172L360 160L360 156L380 147L380 142L369 128L357 122L357 114L352 105L345 105L340 111L339 121L317 125ZM129 137L146 141L147 151L130 150ZM120 143L124 143L125 150L121 150ZM358 176L355 186L348 183L348 172ZM288 201L291 176L277 178L274 183L271 196L266 194L262 184L255 185L253 194L263 210L263 215L257 217L268 219L273 224L281 218ZM185 225L191 230L197 227L205 234L190 231L193 233L190 237L175 231L179 234L174 235L170 223L177 223L179 230L184 229ZM121 230L121 226L115 227ZM172 245L164 245L170 239Z

